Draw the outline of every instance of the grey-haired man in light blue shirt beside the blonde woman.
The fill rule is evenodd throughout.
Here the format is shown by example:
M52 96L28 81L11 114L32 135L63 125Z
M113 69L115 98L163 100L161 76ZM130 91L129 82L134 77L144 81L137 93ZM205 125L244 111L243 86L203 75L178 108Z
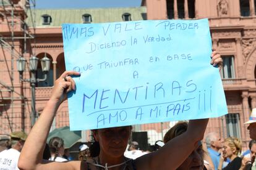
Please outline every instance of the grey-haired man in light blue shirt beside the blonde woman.
M218 169L220 163L221 153L219 150L222 148L223 144L221 142L221 137L216 132L210 132L205 136L205 142L207 144L207 151L211 157L215 170Z

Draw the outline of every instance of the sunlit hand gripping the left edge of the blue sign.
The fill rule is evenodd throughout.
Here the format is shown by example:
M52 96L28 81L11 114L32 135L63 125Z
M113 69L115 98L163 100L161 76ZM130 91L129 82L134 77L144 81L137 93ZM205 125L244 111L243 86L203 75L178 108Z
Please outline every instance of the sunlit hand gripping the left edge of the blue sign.
M71 76L79 76L80 73L76 71L65 71L54 82L53 91L51 92L50 100L61 104L67 99L67 92L75 90L75 81Z

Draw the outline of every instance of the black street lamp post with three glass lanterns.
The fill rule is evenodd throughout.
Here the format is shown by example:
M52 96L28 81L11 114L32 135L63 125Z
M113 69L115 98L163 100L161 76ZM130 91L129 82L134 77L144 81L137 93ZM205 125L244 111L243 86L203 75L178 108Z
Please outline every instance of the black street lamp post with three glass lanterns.
M38 117L38 115L36 114L35 111L35 85L36 83L40 82L40 81L45 81L47 78L47 73L49 71L49 67L50 67L50 62L51 60L48 59L48 57L43 57L43 59L40 60L41 62L41 68L42 71L44 73L44 78L43 79L39 79L36 78L36 70L37 70L37 65L38 65L38 58L35 56L30 57L29 59L29 69L30 69L30 79L23 79L23 71L25 70L25 63L27 62L23 57L20 57L17 60L17 68L18 71L20 73L20 81L25 81L25 82L29 82L30 86L31 86L31 94L32 94L32 98L31 98L31 110L32 113L30 114L30 119L31 119L31 126L33 126L35 124L35 120Z

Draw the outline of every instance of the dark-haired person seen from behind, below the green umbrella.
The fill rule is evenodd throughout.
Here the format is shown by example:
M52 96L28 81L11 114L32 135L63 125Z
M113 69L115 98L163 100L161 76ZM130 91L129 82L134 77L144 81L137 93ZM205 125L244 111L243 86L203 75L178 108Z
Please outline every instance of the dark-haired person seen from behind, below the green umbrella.
M49 140L49 150L51 152L50 161L64 162L67 159L63 158L64 155L64 140L60 137L52 137Z

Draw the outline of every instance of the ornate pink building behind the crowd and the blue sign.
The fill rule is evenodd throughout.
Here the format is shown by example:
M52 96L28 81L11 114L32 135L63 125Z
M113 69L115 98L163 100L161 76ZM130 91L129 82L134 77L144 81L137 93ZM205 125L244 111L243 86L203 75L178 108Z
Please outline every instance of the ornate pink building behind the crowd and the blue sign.
M39 59L47 55L51 59L47 81L36 84L39 115L49 99L54 79L65 70L61 23L208 18L213 48L223 57L221 76L229 114L211 119L207 132L241 137L244 142L250 140L243 123L256 107L255 0L143 0L141 7L75 10L33 10L30 6L25 0L0 4L0 134L30 131L30 84L20 82L15 60L23 56L28 61L32 55ZM30 78L28 70L27 65L23 78ZM36 74L42 78L40 65ZM66 125L69 118L65 102L53 128ZM168 128L169 123L143 124L134 126L134 131L146 131L145 140L153 144L162 139Z

